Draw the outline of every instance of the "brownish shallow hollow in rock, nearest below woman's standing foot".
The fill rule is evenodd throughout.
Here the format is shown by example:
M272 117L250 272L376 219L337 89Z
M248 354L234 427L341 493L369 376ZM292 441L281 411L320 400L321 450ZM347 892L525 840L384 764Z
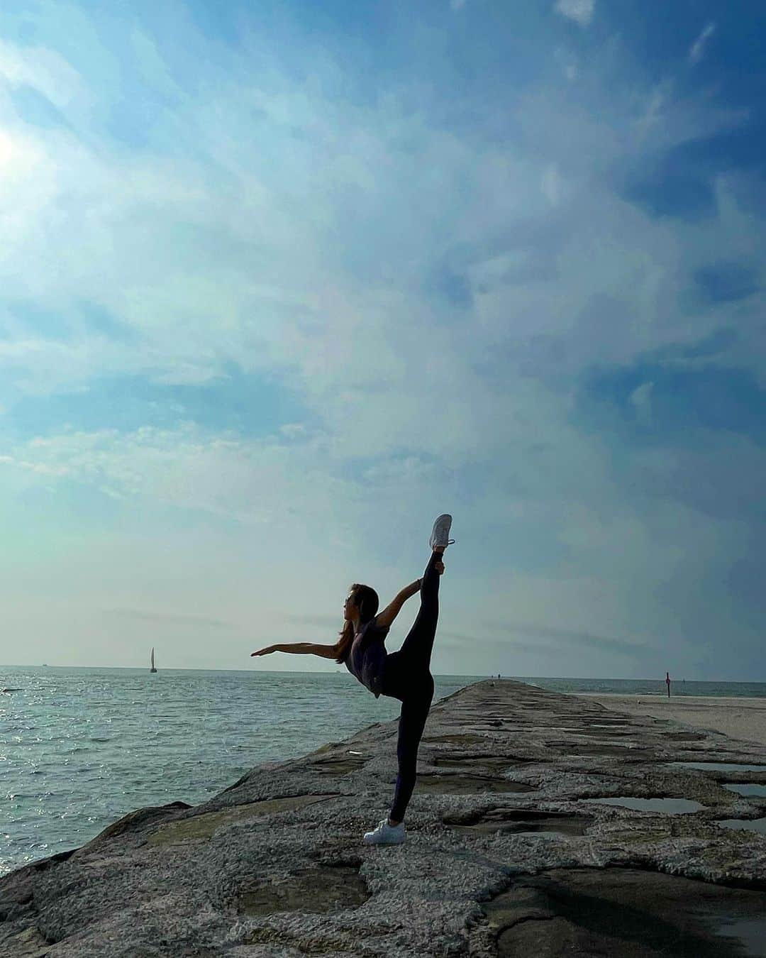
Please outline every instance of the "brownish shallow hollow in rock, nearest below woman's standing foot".
M369 898L370 892L358 867L323 865L302 868L286 878L243 889L237 898L237 907L245 915L270 915L275 911L322 914L358 908Z

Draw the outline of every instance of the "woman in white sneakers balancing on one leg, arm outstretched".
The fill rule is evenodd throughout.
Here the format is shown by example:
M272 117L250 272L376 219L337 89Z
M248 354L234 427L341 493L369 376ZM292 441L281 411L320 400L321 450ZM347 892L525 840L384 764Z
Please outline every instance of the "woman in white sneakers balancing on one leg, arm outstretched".
M454 541L449 538L451 524L451 515L439 515L431 533L431 558L423 578L405 586L382 612L375 614L378 598L374 589L358 583L351 586L343 607L343 631L334 646L297 642L253 652L253 655L299 652L335 659L344 664L376 698L390 696L401 702L394 804L388 818L384 818L373 832L365 834L368 845L397 845L404 841L404 813L415 787L417 748L434 697L431 650L439 618L439 576L444 571L441 558ZM402 605L418 591L420 609L415 624L401 649L389 654L384 645L389 628Z

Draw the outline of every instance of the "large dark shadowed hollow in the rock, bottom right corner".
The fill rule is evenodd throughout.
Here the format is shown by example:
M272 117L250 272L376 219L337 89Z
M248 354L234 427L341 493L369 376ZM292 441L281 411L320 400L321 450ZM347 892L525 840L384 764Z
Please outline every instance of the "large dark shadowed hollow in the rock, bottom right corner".
M636 869L516 878L482 905L500 958L764 958L766 894Z

